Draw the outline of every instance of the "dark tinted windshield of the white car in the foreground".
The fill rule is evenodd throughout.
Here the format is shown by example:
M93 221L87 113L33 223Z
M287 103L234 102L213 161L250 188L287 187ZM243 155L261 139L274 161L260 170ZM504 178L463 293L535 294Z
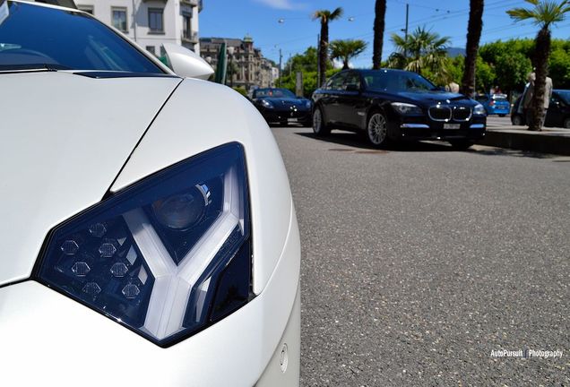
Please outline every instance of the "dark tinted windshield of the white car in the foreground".
M164 73L91 15L11 1L7 5L8 16L0 21L0 71Z

